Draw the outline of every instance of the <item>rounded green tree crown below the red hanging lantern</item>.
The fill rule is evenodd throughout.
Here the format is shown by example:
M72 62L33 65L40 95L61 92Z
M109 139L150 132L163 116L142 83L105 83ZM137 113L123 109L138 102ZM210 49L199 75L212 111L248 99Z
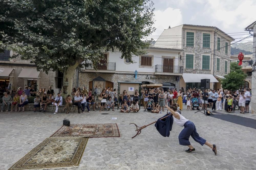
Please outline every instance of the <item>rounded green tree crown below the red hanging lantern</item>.
M244 84L244 79L246 77L244 74L240 74L237 72L231 72L225 75L223 79L221 79L221 86L223 89L228 90L237 90Z

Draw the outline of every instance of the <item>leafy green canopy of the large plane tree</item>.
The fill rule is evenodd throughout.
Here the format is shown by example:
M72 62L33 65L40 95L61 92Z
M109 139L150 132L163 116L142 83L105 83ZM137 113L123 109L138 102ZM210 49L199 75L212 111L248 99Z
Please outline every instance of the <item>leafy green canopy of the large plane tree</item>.
M150 0L1 0L0 49L31 60L38 70L64 71L103 53L143 55L155 28ZM13 57L16 57L15 55Z

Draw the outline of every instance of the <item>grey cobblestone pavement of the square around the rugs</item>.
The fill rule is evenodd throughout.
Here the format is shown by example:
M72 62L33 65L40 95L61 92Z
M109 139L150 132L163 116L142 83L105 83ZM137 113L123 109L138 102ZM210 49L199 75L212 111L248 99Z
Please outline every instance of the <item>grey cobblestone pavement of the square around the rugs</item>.
M222 111L223 112L223 111ZM102 115L101 113L109 113ZM142 130L134 139L135 126L156 121L162 114L143 112L91 111L66 115L73 123L117 123L121 137L90 138L78 170L82 169L256 169L256 130L194 111L182 111L194 122L199 135L216 144L217 156L207 146L190 138L194 153L179 145L183 129L176 124L170 137L162 137L154 125ZM237 113L234 113L237 114ZM249 115L249 114L248 114ZM112 120L117 117L117 120ZM30 112L0 113L0 169L15 162L50 137L62 126L64 114Z

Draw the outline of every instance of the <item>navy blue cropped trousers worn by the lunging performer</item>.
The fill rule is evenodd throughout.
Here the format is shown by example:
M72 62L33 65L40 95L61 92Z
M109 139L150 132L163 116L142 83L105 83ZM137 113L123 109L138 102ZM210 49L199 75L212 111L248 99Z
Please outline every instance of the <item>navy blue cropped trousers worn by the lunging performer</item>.
M193 122L187 121L184 124L184 129L179 134L179 144L188 146L190 145L189 137L192 137L196 142L200 143L200 145L204 145L206 140L201 138L196 132L196 126Z

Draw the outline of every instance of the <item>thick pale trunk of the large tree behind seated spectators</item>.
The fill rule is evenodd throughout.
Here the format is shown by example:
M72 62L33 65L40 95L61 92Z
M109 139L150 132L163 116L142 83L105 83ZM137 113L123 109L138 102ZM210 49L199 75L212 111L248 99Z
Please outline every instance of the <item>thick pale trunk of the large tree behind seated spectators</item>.
M66 97L67 95L71 96L73 89L73 77L79 64L80 63L76 62L73 66L68 67L63 73L62 97ZM65 86L64 82L68 82L68 86Z

